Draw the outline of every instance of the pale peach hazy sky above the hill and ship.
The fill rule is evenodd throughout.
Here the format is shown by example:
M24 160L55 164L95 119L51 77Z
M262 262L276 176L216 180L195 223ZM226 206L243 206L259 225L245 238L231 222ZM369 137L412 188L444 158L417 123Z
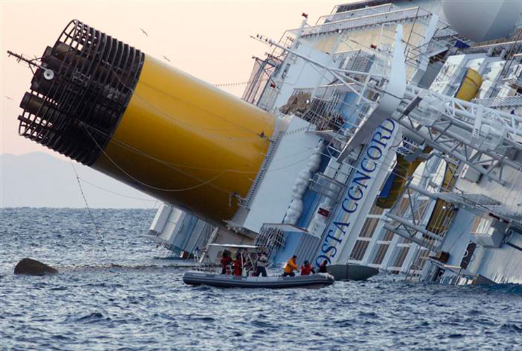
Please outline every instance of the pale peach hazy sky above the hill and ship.
M213 84L247 81L252 55L267 46L249 35L279 39L298 27L301 13L314 24L343 1L4 1L0 0L0 152L46 151L18 135L18 107L32 73L8 58L11 50L40 56L69 20L78 18L117 39ZM349 2L349 1L344 1ZM148 37L142 34L145 29ZM244 86L224 88L241 95ZM9 98L13 100L10 100Z

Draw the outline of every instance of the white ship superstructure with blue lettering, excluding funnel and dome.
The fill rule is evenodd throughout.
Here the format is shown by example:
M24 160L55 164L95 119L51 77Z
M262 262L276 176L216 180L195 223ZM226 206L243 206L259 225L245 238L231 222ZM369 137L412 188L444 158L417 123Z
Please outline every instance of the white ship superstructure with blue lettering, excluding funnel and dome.
M243 99L286 126L228 223L234 237L216 228L210 241L255 241L275 265L297 254L522 282L520 31L476 43L434 3L342 4L279 42L257 36L273 50Z

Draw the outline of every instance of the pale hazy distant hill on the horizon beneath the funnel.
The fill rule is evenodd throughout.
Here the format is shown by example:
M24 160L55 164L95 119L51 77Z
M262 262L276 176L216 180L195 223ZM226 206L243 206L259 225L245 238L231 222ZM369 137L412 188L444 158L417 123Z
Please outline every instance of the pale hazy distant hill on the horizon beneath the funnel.
M155 200L74 162L88 205L152 208ZM84 207L71 162L44 152L0 154L1 207ZM88 183L87 183L88 182Z

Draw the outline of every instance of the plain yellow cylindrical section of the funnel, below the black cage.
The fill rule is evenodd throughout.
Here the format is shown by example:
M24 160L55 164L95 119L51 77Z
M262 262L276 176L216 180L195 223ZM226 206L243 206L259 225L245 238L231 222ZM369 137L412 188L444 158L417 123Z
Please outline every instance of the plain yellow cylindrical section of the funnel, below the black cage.
M98 171L224 225L246 197L274 117L145 55Z

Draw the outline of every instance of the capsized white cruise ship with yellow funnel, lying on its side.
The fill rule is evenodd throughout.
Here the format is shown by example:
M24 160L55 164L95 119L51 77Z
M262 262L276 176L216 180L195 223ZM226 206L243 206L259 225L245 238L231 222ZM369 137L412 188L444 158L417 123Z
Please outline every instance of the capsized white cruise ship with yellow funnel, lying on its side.
M522 284L521 11L303 13L252 36L269 53L241 99L73 20L29 62L20 135L163 201L147 237L180 256L255 244L276 267Z

